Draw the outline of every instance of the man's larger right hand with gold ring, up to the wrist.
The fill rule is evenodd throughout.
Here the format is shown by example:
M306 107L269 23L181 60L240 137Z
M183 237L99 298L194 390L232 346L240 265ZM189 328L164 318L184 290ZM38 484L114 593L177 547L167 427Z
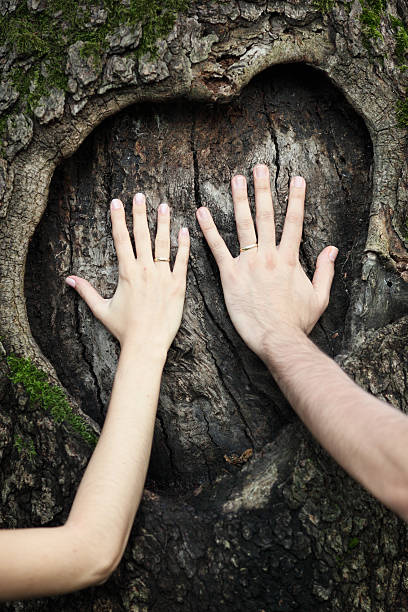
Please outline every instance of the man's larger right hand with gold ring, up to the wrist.
M299 263L306 184L291 181L289 202L280 244L275 223L269 170L254 168L256 230L252 221L245 177L234 176L232 198L240 247L257 248L232 257L209 210L199 208L197 218L218 264L225 303L231 320L246 344L264 359L267 347L284 330L308 334L329 303L336 247L326 247L317 258L312 282Z

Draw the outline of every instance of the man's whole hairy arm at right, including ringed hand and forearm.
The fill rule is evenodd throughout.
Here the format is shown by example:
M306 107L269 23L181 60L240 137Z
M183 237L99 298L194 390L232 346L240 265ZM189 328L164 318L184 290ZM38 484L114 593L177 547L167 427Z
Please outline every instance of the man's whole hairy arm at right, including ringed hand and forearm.
M408 520L408 419L366 393L307 337L329 302L335 247L319 255L313 279L299 263L305 182L292 180L280 244L275 243L266 166L254 168L256 230L244 177L232 194L241 247L233 258L209 211L197 217L217 260L238 333L263 359L299 417L354 478Z

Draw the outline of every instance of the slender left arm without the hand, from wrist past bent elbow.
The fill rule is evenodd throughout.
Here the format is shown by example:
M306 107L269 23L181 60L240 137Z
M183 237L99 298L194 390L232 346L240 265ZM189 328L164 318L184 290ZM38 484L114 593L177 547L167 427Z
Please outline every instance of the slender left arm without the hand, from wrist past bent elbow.
M101 437L65 525L0 532L0 600L75 591L116 568L143 491L165 360L165 350L122 350Z

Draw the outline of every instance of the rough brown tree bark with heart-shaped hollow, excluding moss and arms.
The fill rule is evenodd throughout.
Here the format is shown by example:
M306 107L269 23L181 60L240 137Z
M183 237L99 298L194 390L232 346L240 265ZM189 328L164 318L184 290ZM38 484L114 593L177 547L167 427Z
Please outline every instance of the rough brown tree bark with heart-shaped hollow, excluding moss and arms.
M339 2L323 17L305 0L192 4L156 59L135 62L124 44L98 74L70 48L75 91L51 92L34 120L21 116L9 130L2 343L60 381L96 431L118 350L64 276L114 290L108 203L120 196L129 211L139 189L151 213L171 204L174 236L190 226L192 256L124 560L102 587L4 609L407 609L405 525L319 448L237 337L193 220L206 203L236 252L231 175L268 163L279 233L289 177L303 174L302 263L311 273L325 245L340 249L313 338L364 388L408 411L408 168L395 118L406 83L388 18L367 50L361 5L346 8ZM387 10L407 16L403 2ZM0 374L1 526L59 524L90 451L29 405L7 381L5 360ZM35 457L19 451L16 435L33 440Z

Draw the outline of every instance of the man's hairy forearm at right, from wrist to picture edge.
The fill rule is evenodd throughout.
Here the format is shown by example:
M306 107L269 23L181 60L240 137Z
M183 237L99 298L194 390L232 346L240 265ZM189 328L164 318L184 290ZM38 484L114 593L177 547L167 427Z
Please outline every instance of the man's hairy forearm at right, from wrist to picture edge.
M373 495L408 519L408 419L358 387L301 331L271 339L264 360L317 440Z

